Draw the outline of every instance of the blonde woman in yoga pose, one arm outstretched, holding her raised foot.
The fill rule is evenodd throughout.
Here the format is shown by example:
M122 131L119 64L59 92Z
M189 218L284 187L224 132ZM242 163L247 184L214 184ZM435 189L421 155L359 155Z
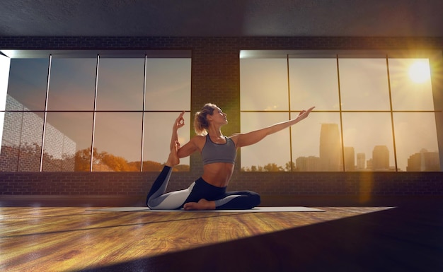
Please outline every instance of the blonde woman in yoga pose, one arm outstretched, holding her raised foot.
M258 206L260 195L253 191L226 191L234 172L236 149L251 146L267 135L297 124L308 117L313 108L301 111L295 119L246 134L238 133L226 137L221 131L222 126L228 124L226 114L217 105L208 103L195 114L194 129L197 136L191 138L184 146L178 143L177 134L178 129L185 124L185 112L181 112L173 124L171 153L146 197L146 206L156 210L250 209ZM192 182L188 189L165 194L172 167L178 165L180 158L197 151L202 154L202 177Z

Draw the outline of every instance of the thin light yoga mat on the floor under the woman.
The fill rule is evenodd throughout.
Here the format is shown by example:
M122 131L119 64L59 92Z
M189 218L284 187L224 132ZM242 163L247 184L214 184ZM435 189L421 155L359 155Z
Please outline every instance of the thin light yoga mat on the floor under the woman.
M143 212L181 212L181 213L270 213L270 212L305 212L305 211L324 211L318 208L307 208L301 206L294 207L255 207L250 210L202 210L202 211L185 211L180 210L151 210L147 207L113 207L113 208L89 208L86 211L143 211Z

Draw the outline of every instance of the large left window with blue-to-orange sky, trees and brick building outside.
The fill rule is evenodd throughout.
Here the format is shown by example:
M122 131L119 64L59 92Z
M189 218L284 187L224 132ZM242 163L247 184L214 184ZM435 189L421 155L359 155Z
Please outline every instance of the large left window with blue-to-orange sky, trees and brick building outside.
M2 52L0 171L159 171L190 118L190 52Z

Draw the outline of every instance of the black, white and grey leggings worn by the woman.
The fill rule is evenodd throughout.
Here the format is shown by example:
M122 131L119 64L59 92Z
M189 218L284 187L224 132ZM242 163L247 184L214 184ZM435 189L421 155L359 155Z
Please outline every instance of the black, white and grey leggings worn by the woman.
M198 202L200 199L215 201L215 208L219 210L246 210L260 204L260 195L253 191L226 191L226 187L216 187L201 177L192 182L188 189L165 194L171 172L172 167L164 166L152 184L146 197L146 206L152 210L176 210L183 208L185 203Z

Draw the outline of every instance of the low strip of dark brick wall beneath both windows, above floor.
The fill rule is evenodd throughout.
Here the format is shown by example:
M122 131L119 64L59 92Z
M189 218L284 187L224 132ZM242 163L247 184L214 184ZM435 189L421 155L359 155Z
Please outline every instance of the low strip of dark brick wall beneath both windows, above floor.
M140 196L154 172L0 172L2 195ZM198 174L174 172L169 190L184 189ZM443 194L443 172L246 172L229 190L265 195L422 196Z

